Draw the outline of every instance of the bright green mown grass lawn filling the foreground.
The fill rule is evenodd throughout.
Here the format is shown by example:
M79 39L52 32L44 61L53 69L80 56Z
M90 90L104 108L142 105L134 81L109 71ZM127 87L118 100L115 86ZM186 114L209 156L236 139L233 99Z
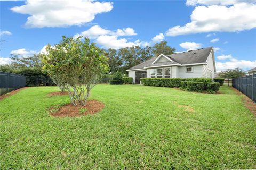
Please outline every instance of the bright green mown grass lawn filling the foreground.
M0 169L255 169L256 118L223 94L98 85L98 114L51 117L69 102L32 87L0 101ZM186 105L194 111L188 111Z

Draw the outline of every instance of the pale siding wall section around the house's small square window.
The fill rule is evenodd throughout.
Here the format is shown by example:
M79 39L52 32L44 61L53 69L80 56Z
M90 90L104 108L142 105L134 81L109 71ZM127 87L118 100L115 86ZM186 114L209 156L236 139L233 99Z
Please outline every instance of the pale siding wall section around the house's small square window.
M187 67L193 67L193 72L186 72ZM198 78L202 77L202 65L180 66L178 78Z

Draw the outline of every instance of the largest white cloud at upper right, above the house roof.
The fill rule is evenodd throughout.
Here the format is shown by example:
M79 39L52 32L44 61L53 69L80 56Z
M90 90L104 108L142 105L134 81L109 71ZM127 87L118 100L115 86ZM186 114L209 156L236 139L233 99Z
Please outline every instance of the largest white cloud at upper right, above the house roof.
M184 26L170 28L166 31L166 35L236 32L256 28L256 4L237 3L232 6L196 6L190 18L191 22Z

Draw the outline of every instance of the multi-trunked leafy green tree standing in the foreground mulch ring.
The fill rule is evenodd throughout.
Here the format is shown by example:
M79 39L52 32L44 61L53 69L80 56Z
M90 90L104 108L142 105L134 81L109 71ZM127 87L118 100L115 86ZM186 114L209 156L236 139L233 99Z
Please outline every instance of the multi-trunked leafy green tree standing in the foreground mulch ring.
M59 44L46 47L42 60L43 71L68 90L74 106L85 105L90 90L109 69L104 51L90 43L89 38L81 38L63 36Z

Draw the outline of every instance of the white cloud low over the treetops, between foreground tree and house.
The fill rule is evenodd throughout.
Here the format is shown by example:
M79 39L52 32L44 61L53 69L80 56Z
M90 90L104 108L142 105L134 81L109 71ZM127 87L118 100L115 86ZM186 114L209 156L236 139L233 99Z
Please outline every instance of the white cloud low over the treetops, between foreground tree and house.
M128 41L126 38L121 38L122 36L135 36L137 33L133 28L123 28L117 30L108 30L105 28L101 28L99 25L94 25L88 30L85 30L81 33L77 33L74 38L79 36L89 37L95 40L95 43L101 45L103 48L124 48L124 47L132 47L132 46L150 46L155 43L159 43L164 39L163 33L159 33L151 41Z

